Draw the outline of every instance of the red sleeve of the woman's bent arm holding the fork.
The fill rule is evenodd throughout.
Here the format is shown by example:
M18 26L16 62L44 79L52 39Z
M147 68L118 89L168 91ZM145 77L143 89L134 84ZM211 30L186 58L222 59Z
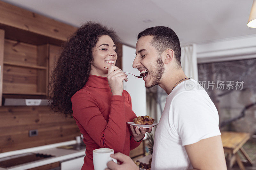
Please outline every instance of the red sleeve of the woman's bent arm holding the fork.
M80 93L72 97L72 108L74 108L76 120L101 148L122 152L126 134L124 96L112 96L107 122L92 95L86 91Z

